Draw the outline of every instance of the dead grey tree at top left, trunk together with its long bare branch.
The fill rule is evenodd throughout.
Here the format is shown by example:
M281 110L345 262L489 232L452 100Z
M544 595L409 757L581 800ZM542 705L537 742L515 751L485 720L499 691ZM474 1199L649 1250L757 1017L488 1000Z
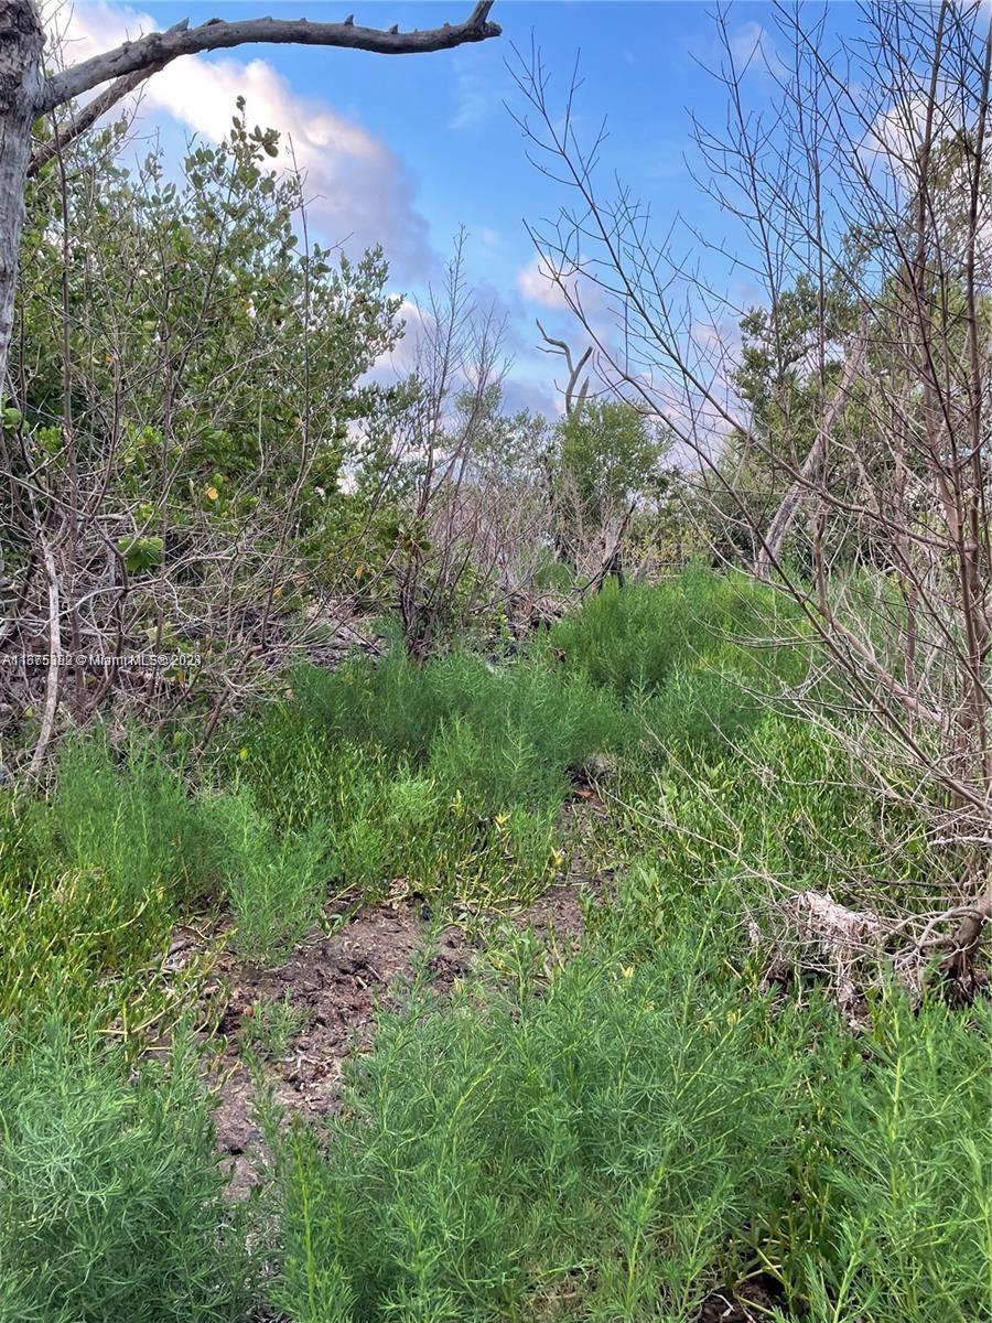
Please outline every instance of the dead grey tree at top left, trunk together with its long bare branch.
M126 41L61 73L45 74L45 36L34 0L0 0L0 392L7 381L17 249L24 225L24 185L32 164L33 127L53 116L52 144L71 140L151 74L180 56L221 50L245 42L341 46L378 54L405 56L450 50L500 34L488 21L492 0L479 0L464 22L425 32L389 32L344 22L311 22L307 19L245 19L227 22L212 19L190 28L188 21L168 32L153 32ZM108 85L104 87L104 85ZM104 87L78 115L58 119L78 97ZM42 149L45 151L45 149Z

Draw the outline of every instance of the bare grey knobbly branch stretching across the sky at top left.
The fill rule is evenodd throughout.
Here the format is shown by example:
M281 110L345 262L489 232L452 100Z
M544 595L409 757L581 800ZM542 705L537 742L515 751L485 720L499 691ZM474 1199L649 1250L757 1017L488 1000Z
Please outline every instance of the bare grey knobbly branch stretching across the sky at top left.
M312 22L308 19L242 19L226 22L222 19L210 19L197 28L180 24L168 32L152 32L136 41L126 41L115 50L107 50L91 60L83 60L71 69L53 74L42 87L37 112L48 114L111 79L138 73L149 74L180 56L193 56L202 50L225 50L246 42L343 46L382 56L450 50L466 42L499 37L499 24L488 21L491 8L492 0L480 0L464 22L454 26L444 24L442 28L429 28L425 32L360 28L351 17L344 22Z

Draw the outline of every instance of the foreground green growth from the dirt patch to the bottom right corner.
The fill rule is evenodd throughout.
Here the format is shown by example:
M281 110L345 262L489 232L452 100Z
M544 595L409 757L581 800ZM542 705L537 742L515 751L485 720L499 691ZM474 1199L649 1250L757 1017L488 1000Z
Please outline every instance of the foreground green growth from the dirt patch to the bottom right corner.
M734 963L733 888L668 884L550 982L518 942L388 1015L327 1143L278 1142L294 1323L676 1323L759 1267L813 1323L981 1316L989 1008L891 992L852 1039Z

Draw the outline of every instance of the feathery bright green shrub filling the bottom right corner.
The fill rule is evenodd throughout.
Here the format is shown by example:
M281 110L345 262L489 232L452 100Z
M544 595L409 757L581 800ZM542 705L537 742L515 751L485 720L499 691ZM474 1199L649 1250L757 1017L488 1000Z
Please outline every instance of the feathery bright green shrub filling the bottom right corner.
M786 1262L813 1323L972 1323L992 1301L992 1007L903 995L821 1052ZM800 1252L802 1248L802 1252Z

